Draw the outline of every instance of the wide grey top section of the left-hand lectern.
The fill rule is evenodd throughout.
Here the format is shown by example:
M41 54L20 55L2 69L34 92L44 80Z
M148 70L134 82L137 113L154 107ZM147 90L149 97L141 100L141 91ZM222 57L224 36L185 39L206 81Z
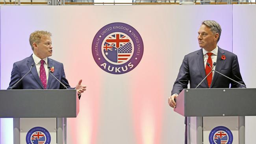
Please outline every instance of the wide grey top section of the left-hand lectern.
M79 112L76 90L0 90L0 118L69 118Z

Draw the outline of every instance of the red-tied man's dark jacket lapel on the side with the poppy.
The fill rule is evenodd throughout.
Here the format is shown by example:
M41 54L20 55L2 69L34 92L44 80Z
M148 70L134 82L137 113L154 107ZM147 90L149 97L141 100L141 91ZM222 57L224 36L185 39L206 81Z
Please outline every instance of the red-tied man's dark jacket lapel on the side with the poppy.
M224 50L219 47L219 49L218 49L218 55L217 55L217 61L216 61L216 67L215 67L215 70L216 70L217 72L220 72L220 71L221 71L221 68L223 67L223 65L224 65L224 63L225 63L225 61L223 61L223 60L221 59L221 56L222 56L224 53L225 53ZM217 80L217 78L218 78L218 76L219 76L219 74L217 74L217 72L215 72L215 73L213 74L213 79L212 79L212 82L211 82L211 86L210 86L210 87L212 87L212 86L214 85L215 81Z

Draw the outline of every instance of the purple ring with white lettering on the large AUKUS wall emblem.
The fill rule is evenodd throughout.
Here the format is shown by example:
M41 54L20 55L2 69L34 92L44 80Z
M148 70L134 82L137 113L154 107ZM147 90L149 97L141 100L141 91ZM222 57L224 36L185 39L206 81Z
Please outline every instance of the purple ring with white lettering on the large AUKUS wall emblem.
M131 30L131 32L129 31L126 31L126 30L123 30L123 29L113 29L113 26L123 26L123 27L126 27L126 28L129 28L129 31ZM132 57L130 58L129 61L127 61L126 63L123 63L121 65L114 65L112 63L109 63L108 61L106 61L106 59L103 57L102 55L102 52L101 52L101 46L102 46L102 42L104 41L105 37L102 36L102 37L99 37L101 35L101 33L104 31L104 30L108 30L108 28L112 27L112 30L110 31L106 31L106 33L104 33L104 36L108 36L110 33L114 33L114 32L122 32L122 33L125 33L126 35L128 35L131 39L132 39L132 42L134 43L134 53L132 55ZM137 36L137 39L139 40L139 42L137 43L136 42L136 39L134 38L134 36L132 35L132 33L134 33L136 36ZM98 41L98 39L100 39ZM96 43L98 41L98 54L99 55L96 55L96 49L95 49L95 46L96 46ZM140 53L139 53L139 56L137 56L137 44L140 44ZM144 45L143 45L143 40L141 38L141 35L139 34L139 32L137 30L135 30L135 28L133 28L132 26L128 25L128 24L125 24L125 23L122 23L122 22L114 22L114 23L111 23L111 24L107 24L106 26L102 27L95 35L95 37L93 38L93 43L92 43L92 54L93 54L93 59L94 61L97 63L97 65L104 71L110 73L110 74L125 74L127 72L130 72L131 70L133 70L138 64L139 62L141 61L142 59L142 56L143 56L143 51L144 51ZM137 57L137 59L135 59L135 57ZM98 58L100 58L100 60L98 60ZM113 67L124 67L127 66L129 63L131 63L134 65L132 68L128 68L128 70L126 70L125 72L121 71L121 72L115 72L115 68L112 72L109 72L108 71L108 66L113 66ZM103 68L103 66L100 66L101 64L103 63L106 63L107 66L106 66L106 69ZM128 66L127 66L128 67Z

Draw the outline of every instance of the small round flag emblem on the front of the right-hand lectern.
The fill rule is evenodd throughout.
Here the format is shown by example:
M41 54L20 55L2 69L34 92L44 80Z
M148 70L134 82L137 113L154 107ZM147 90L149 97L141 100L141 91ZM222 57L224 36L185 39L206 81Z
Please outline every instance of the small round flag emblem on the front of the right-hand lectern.
M210 144L232 144L233 134L224 126L218 126L211 130L209 135Z

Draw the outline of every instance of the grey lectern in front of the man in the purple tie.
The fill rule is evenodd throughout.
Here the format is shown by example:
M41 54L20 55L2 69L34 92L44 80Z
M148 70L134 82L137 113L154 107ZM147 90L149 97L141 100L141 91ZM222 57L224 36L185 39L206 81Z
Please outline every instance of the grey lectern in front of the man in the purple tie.
M14 118L14 144L26 144L27 126L42 123L51 125L51 144L66 144L66 118L78 113L76 90L0 90L0 118Z

